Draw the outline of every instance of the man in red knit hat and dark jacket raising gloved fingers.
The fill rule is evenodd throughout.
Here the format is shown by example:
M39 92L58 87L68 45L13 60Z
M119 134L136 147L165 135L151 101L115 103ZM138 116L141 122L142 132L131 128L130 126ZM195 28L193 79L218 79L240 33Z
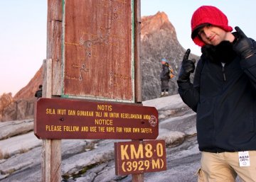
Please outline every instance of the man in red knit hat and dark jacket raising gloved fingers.
M214 6L201 6L191 18L191 38L201 59L188 59L178 74L178 93L196 113L202 152L198 181L256 181L256 42Z

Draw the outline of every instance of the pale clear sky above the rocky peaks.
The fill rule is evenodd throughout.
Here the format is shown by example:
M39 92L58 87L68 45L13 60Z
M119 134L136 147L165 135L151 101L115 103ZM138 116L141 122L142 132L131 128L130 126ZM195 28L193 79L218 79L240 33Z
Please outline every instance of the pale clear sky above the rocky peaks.
M178 41L200 55L191 40L191 16L199 6L220 8L247 36L256 39L256 1L238 0L141 0L142 16L164 11L174 25ZM46 58L46 0L0 0L0 96L14 96L33 78Z

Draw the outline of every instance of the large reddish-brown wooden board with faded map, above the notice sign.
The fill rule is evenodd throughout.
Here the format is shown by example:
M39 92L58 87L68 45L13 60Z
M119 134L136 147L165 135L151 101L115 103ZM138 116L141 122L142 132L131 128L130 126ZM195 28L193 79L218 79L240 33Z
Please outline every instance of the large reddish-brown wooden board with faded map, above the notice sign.
M133 0L63 0L63 97L134 103Z

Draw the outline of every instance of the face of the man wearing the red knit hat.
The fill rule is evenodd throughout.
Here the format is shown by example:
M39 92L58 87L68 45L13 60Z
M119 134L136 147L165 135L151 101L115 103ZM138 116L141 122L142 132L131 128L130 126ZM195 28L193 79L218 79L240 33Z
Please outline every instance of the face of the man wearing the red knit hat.
M208 45L218 45L227 40L227 32L215 25L206 25L198 31L198 36Z

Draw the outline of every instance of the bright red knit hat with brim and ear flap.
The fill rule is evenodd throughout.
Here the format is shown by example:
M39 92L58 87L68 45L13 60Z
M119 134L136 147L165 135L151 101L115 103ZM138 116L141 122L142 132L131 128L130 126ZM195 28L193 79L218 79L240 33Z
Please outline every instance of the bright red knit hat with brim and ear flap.
M205 43L198 38L197 33L201 25L210 23L211 25L218 26L227 32L233 30L228 25L228 18L225 14L214 6L201 6L194 13L191 18L191 38L196 45L203 46Z

